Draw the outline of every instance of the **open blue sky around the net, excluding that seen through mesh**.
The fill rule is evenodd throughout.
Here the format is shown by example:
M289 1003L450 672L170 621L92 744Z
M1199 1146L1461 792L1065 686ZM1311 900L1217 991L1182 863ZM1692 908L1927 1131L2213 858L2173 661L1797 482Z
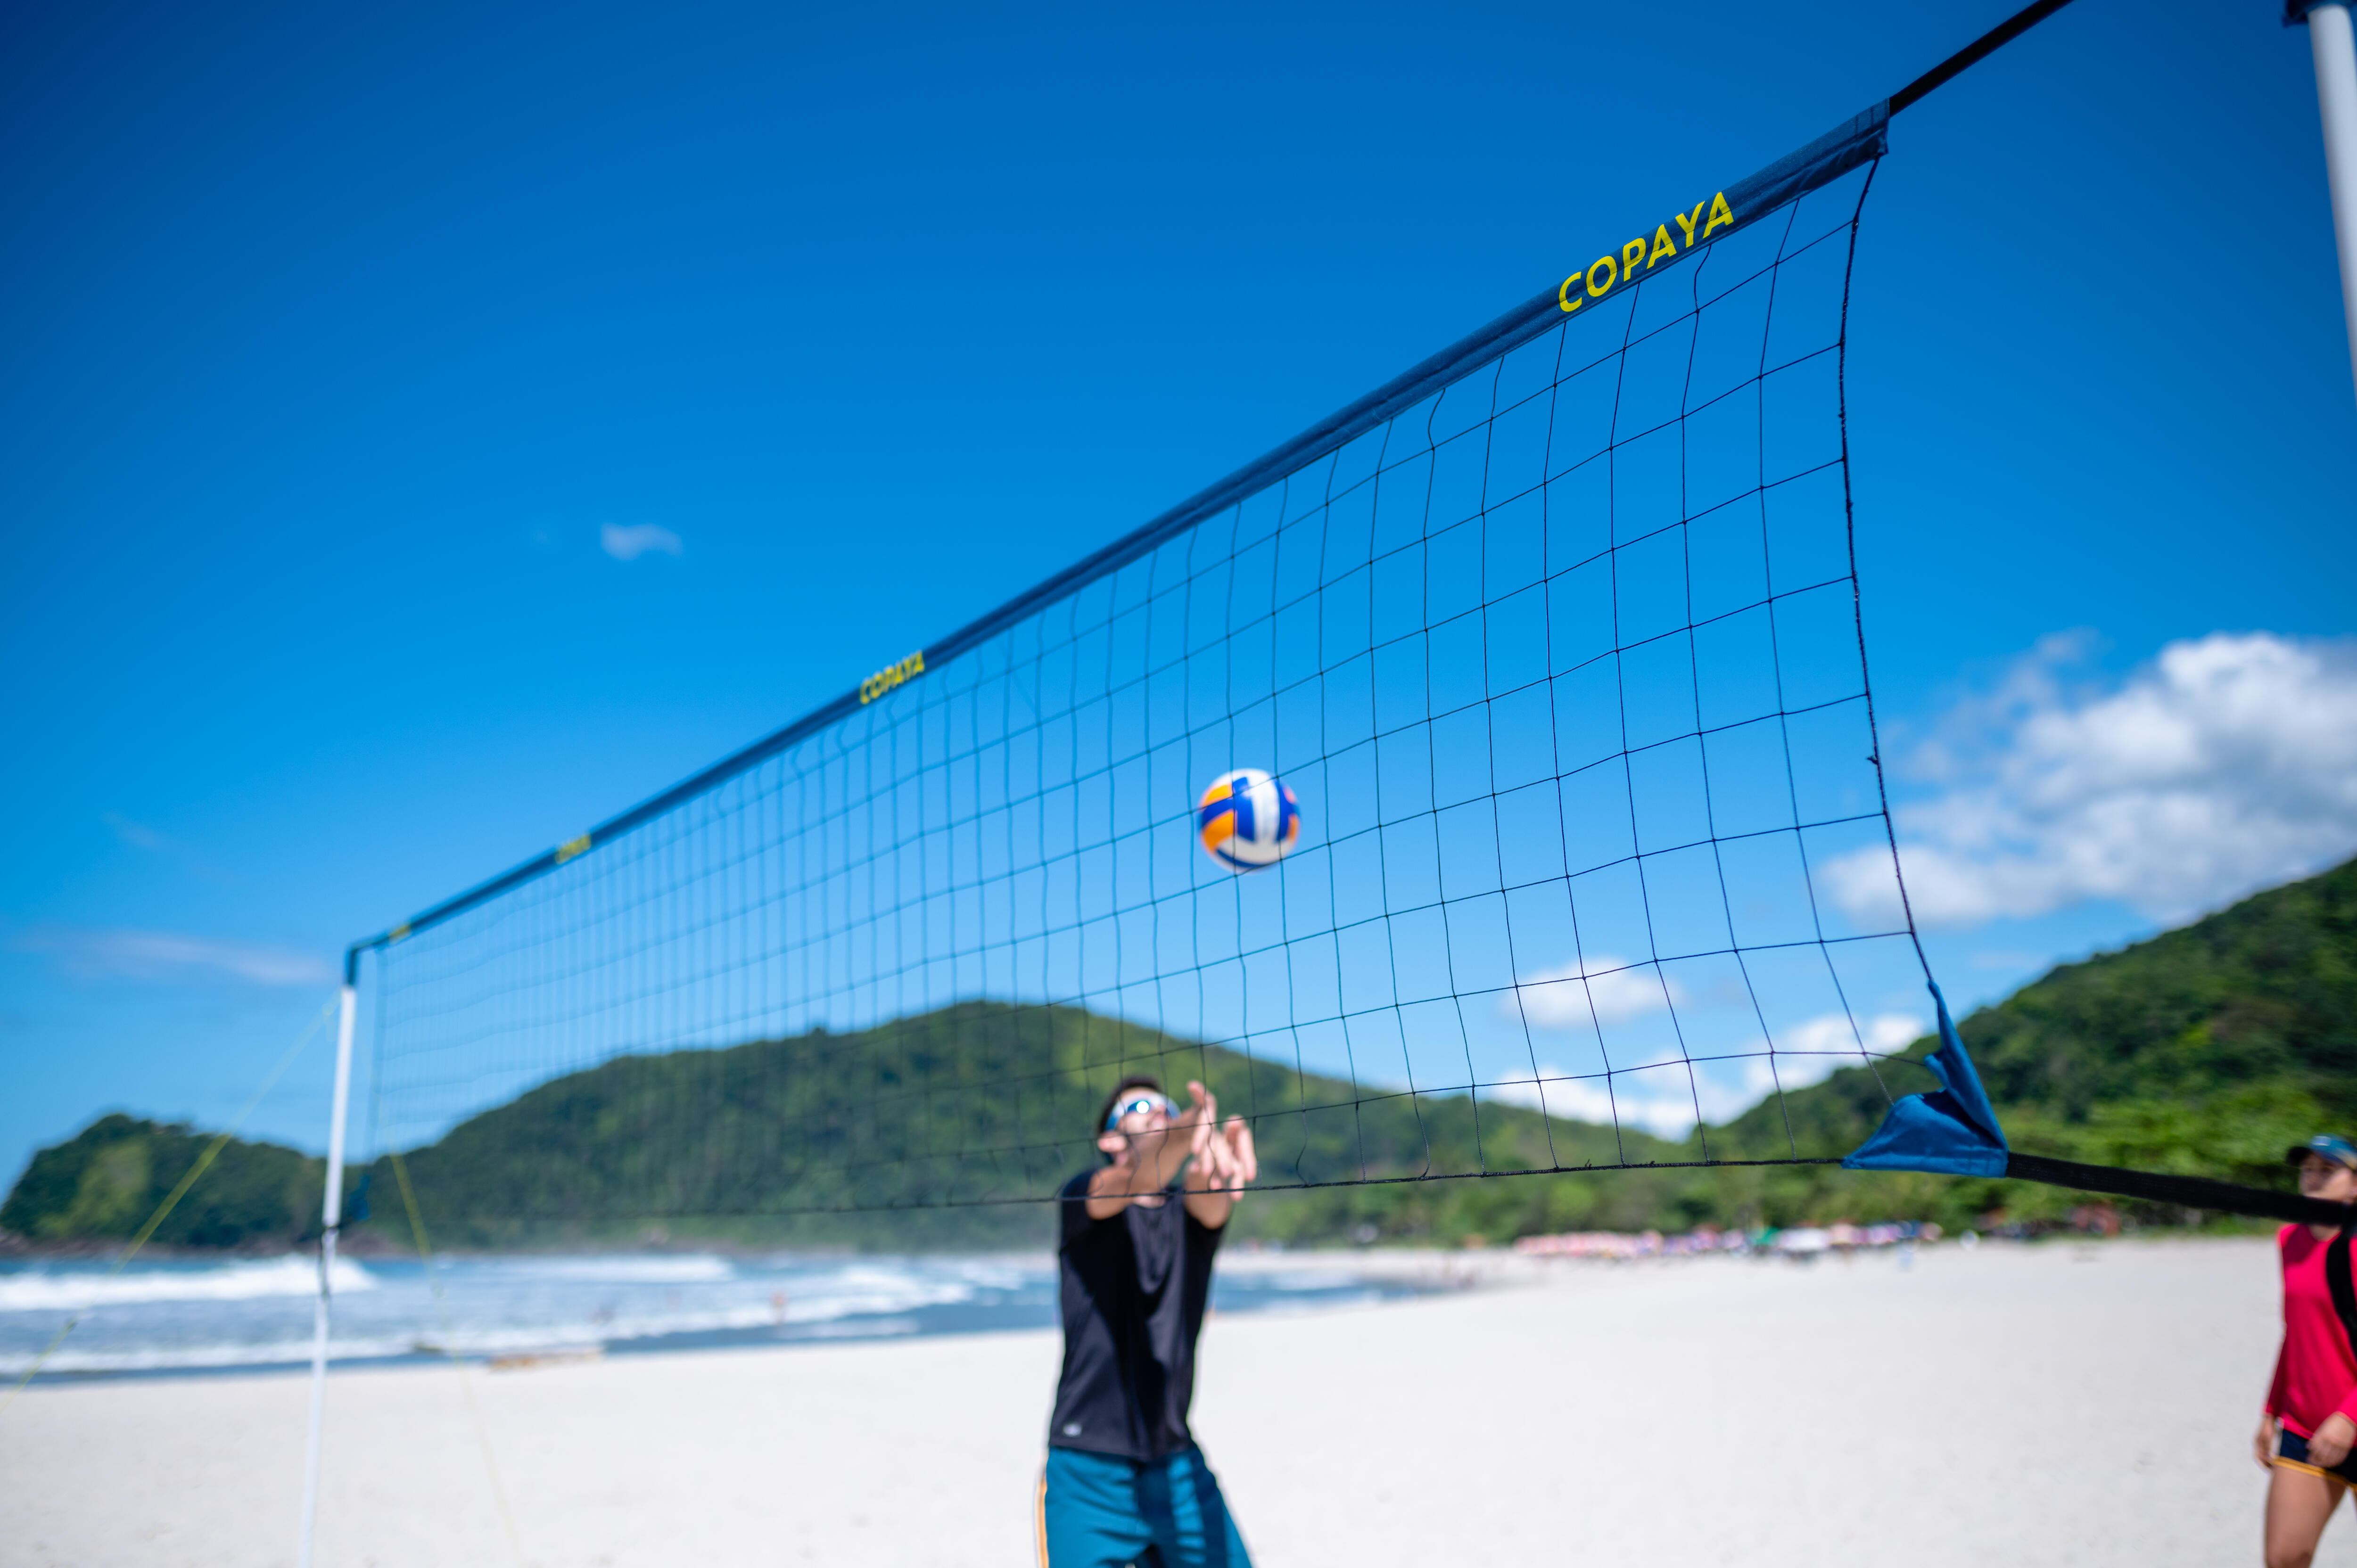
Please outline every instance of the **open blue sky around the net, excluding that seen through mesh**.
M2006 9L14 17L0 1174ZM2357 849L2315 116L2275 7L2079 0L1893 127L1860 573L1961 1002Z

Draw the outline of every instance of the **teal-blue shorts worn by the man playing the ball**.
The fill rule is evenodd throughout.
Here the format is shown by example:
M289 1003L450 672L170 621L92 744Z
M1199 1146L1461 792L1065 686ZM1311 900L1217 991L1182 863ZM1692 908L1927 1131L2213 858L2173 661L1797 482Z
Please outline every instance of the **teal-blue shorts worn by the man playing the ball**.
M1039 1568L1252 1568L1219 1476L1200 1448L1169 1460L1115 1460L1049 1448L1039 1476Z

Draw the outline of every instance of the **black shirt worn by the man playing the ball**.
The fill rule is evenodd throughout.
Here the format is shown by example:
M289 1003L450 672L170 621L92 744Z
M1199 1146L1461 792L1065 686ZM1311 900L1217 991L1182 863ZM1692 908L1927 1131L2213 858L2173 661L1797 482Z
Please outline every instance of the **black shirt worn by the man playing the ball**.
M1113 1219L1089 1219L1094 1174L1065 1181L1056 1205L1063 1377L1047 1443L1164 1460L1195 1443L1186 1412L1219 1231L1186 1212L1176 1184L1155 1207L1131 1203Z

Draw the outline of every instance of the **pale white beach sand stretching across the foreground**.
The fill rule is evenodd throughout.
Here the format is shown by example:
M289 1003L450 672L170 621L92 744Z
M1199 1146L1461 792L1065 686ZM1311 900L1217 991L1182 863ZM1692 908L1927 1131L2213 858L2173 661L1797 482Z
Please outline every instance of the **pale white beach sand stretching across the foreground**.
M1497 1266L1214 1318L1197 1436L1261 1568L2256 1563L2265 1243ZM330 1384L323 1568L1032 1563L1051 1332ZM0 1563L292 1563L299 1377L28 1389ZM2345 1511L2319 1563L2357 1563Z

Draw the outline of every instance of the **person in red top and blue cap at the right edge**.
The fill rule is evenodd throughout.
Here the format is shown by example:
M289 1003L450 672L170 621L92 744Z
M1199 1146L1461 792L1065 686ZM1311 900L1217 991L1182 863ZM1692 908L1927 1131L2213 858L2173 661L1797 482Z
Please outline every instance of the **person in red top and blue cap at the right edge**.
M2300 1193L2357 1203L2357 1144L2315 1137L2286 1155ZM2357 1485L2357 1290L2350 1233L2284 1226L2284 1349L2275 1356L2258 1462L2267 1481L2267 1568L2308 1568L2341 1493ZM2338 1297L2338 1299L2336 1299Z

